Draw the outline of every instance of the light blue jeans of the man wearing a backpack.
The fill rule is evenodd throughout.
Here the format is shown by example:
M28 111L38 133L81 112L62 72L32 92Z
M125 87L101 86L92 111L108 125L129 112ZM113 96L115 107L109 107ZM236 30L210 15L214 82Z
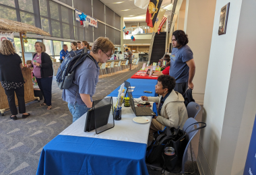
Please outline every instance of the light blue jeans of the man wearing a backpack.
M68 103L67 106L69 107L69 111L73 116L73 122L75 122L75 120L77 120L82 115L86 114L88 110L90 110L90 108L87 108L86 105L79 105L77 103L75 104Z

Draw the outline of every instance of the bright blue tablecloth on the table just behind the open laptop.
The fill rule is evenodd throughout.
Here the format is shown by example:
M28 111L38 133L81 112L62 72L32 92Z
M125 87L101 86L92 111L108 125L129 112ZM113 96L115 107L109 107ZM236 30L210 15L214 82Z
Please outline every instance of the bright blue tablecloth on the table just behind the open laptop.
M155 85L158 83L156 79L127 79L131 86L135 86L132 92L133 98L140 98L141 96L152 96L156 97ZM108 96L117 97L118 91L120 90L120 85L117 89L111 92ZM144 93L144 91L150 91L152 94Z

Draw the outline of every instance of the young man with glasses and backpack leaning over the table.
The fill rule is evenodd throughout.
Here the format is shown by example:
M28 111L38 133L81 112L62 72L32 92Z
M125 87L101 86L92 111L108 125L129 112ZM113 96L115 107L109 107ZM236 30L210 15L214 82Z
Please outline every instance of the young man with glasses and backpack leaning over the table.
M84 61L75 68L75 85L64 89L62 94L63 100L68 102L73 122L92 108L92 96L100 75L98 63L106 63L114 52L114 44L108 38L99 37L94 41L90 55L86 55Z

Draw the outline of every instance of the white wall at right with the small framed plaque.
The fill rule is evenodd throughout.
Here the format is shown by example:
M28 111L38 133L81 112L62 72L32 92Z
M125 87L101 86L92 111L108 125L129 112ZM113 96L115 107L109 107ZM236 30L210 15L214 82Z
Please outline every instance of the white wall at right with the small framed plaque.
M230 2L226 34L220 9ZM189 2L191 3L191 1ZM197 164L201 174L243 174L256 113L253 0L217 0Z

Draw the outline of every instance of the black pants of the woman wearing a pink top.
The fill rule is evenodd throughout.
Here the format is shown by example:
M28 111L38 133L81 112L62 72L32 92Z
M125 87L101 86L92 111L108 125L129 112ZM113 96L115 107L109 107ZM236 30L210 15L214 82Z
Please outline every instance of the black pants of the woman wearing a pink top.
M44 96L44 103L46 103L47 106L51 106L53 77L36 78L36 81L42 92L42 96Z

